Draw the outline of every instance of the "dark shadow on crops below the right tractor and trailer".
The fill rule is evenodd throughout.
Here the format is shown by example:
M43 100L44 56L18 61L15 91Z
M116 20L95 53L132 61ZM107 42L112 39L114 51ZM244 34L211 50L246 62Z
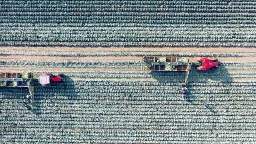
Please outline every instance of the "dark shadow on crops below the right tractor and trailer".
M176 86L175 91L180 91L178 95L181 96L181 91L185 87L181 86L181 83L185 81L186 72L150 72L152 78L154 78L158 83L172 83ZM199 71L195 65L192 65L189 72L189 84L186 89L186 101L190 104L195 105L197 98L195 94L205 93L211 94L211 90L205 88L209 85L223 86L227 83L232 82L232 77L230 77L229 72L225 65L219 62L219 67L215 69L208 69L206 71Z

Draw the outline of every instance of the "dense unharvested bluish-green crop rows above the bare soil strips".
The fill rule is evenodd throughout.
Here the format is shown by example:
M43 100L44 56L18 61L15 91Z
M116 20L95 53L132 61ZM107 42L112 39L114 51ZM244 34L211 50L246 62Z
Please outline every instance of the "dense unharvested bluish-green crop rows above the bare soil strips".
M0 0L0 45L256 45L254 0Z

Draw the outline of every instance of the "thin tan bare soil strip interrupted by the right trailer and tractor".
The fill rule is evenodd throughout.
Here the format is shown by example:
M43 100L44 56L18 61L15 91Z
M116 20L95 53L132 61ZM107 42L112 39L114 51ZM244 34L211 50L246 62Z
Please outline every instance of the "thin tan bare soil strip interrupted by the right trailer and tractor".
M211 58L211 57L210 57ZM136 56L102 56L102 57L61 57L61 56L0 56L3 60L78 60L78 61L141 61L141 57ZM196 61L199 57L189 57L189 61ZM218 57L219 61L256 61L255 57Z

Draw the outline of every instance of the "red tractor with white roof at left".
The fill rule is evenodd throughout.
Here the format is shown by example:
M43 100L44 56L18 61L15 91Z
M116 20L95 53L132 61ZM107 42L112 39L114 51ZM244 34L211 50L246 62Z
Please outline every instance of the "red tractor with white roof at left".
M59 74L58 76L52 74L42 74L39 77L39 83L43 86L53 85L55 83L64 82L63 74Z

